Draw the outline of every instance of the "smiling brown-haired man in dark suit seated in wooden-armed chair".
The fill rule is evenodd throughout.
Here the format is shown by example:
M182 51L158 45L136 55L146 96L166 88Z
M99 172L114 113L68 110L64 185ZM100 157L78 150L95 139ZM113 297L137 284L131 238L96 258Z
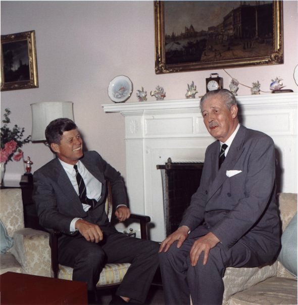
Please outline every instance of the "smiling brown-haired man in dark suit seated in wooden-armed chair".
M40 224L63 233L59 263L73 268L73 280L87 282L90 302L96 298L95 285L106 263L131 263L111 304L144 302L158 267L159 244L128 237L110 226L105 212L107 180L116 217L124 221L130 216L120 173L96 151L83 152L72 120L52 121L45 136L57 158L34 173L33 200Z

